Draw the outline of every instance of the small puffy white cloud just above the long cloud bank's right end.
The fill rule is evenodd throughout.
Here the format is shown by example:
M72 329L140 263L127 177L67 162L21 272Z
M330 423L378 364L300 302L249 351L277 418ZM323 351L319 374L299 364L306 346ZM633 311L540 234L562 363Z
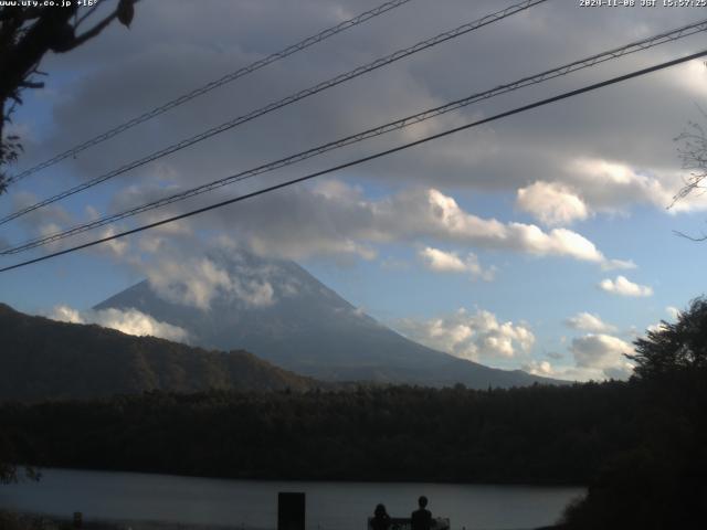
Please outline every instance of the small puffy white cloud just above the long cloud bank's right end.
M537 181L519 189L516 204L546 226L569 225L590 213L582 199L559 182Z

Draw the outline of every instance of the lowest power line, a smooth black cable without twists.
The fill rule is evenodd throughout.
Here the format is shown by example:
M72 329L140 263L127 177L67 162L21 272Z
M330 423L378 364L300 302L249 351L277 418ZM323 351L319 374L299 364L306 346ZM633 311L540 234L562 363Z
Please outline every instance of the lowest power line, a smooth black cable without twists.
M341 165L335 166L333 168L328 168L328 169L325 169L325 170L321 170L321 171L316 171L314 173L309 173L309 174L306 174L304 177L299 177L297 179L293 179L293 180L288 180L286 182L281 182L278 184L270 186L267 188L263 188L261 190L257 190L257 191L254 191L254 192L251 192L251 193L239 195L239 197L235 197L233 199L221 201L221 202L218 202L215 204L208 205L208 206L199 208L197 210L192 210L192 211L187 212L187 213L181 213L179 215L167 218L167 219L163 219L161 221L157 221L157 222L154 222L154 223L150 223L150 224L138 226L136 229L127 230L125 232L120 232L120 233L117 233L117 234L114 234L114 235L102 237L99 240L94 240L94 241L91 241L88 243L84 243L84 244L81 244L81 245L73 246L71 248L65 248L63 251L54 252L54 253L48 254L45 256L40 256L40 257L35 257L34 259L28 259L25 262L21 262L21 263L14 264L14 265L10 265L10 266L0 268L0 273L4 273L4 272L12 271L12 269L15 269L15 268L24 267L27 265L31 265L31 264L34 264L34 263L43 262L45 259L50 259L50 258L53 258L53 257L56 257L56 256L61 256L61 255L64 255L64 254L76 252L76 251L80 251L80 250L83 250L83 248L88 248L91 246L95 246L95 245L98 245L101 243L106 243L108 241L117 240L119 237L125 237L127 235L136 234L138 232L144 232L146 230L155 229L157 226L161 226L163 224L172 223L175 221L179 221L179 220L182 220L182 219L191 218L191 216L200 214L200 213L204 213L204 212L208 212L208 211L211 211L211 210L223 208L223 206L226 206L229 204L233 204L235 202L244 201L246 199L251 199L251 198L254 198L254 197L257 197L257 195L262 195L264 193L268 193L268 192L282 189L282 188L286 188L286 187L289 187L289 186L293 186L293 184L296 184L296 183L299 183L299 182L304 182L306 180L310 180L310 179L314 179L316 177L320 177L320 176L324 176L324 174L333 173L335 171L340 171L341 169L350 168L350 167L354 167L354 166L361 165L363 162L376 160L378 158L386 157L388 155L392 155L394 152L402 151L402 150L409 149L411 147L419 146L421 144L426 144L428 141L431 141L431 140L434 140L434 139L437 139L437 138L443 138L445 136L453 135L453 134L458 132L461 130L471 129L472 127L477 127L477 126L483 125L483 124L488 124L490 121L495 121L495 120L500 119L500 118L505 118L505 117L513 116L513 115L516 115L516 114L525 113L527 110L530 110L530 109L534 109L534 108L538 108L538 107L541 107L541 106L545 106L545 105L549 105L551 103L559 102L561 99L567 99L569 97L578 96L580 94L584 94L584 93L588 93L588 92L591 92L591 91L595 91L595 89L602 88L604 86L613 85L613 84L616 84L616 83L621 83L623 81L627 81L627 80L631 80L631 78L634 78L634 77L639 77L639 76L642 76L642 75L650 74L652 72L657 72L659 70L664 70L664 68L667 68L667 67L671 67L671 66L675 66L676 64L685 63L687 61L693 61L695 59L703 57L705 55L707 55L707 50L698 52L698 53L694 53L692 55L687 55L685 57L675 59L673 61L667 61L667 62L664 62L664 63L661 63L661 64L656 64L656 65L650 66L647 68L634 71L634 72L631 72L629 74L620 75L618 77L612 77L610 80L602 81L600 83L594 83L592 85L584 86L582 88L577 88L574 91L566 92L563 94L560 94L560 95L557 95L557 96L553 96L553 97L549 97L549 98L546 98L546 99L540 99L538 102L535 102L535 103L531 103L531 104L528 104L528 105L524 105L521 107L516 107L516 108L514 108L511 110L506 110L505 113L496 114L496 115L490 116L488 118L484 118L484 119L479 119L479 120L476 120L476 121L472 121L469 124L466 124L466 125L463 125L463 126L460 126L460 127L455 127L453 129L447 129L445 131L437 132L435 135L426 136L426 137L421 138L419 140L410 141L408 144L403 144L403 145L394 147L392 149L387 149L384 151L379 151L379 152L377 152L374 155L369 155L367 157L359 158L359 159L356 159L356 160L352 160L352 161L349 161L349 162L346 162L346 163L341 163Z

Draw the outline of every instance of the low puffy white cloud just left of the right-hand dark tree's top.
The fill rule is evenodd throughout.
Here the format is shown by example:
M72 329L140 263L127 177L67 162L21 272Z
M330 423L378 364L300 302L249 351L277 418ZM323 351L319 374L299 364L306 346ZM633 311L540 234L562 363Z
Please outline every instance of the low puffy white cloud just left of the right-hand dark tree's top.
M624 356L634 353L634 349L618 337L589 333L572 339L570 351L578 368L601 370L608 378L625 379L633 370Z

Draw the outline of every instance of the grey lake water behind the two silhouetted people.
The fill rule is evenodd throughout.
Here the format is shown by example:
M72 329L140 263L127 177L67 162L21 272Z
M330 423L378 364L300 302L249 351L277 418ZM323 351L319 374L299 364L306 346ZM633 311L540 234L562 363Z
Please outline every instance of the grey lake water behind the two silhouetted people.
M409 517L420 495L452 529L526 529L555 522L582 488L450 484L224 480L138 473L44 469L40 483L0 486L0 507L70 518L274 529L277 492L306 494L307 528L363 530L383 502Z

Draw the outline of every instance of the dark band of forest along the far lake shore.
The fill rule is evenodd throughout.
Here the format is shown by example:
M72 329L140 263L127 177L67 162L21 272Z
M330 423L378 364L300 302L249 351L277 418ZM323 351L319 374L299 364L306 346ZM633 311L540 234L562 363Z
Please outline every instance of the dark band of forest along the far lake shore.
M18 455L42 466L180 475L587 483L637 444L630 383L476 391L151 392L0 406Z

